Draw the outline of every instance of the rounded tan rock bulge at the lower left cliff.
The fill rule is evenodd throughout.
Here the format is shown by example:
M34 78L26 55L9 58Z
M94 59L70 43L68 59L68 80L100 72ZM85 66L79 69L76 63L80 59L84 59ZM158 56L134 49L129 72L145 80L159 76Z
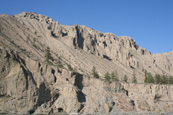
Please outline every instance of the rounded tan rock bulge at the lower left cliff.
M0 102L1 113L16 113L34 109L38 100L32 73L13 52L1 51ZM27 105L26 105L27 104Z

